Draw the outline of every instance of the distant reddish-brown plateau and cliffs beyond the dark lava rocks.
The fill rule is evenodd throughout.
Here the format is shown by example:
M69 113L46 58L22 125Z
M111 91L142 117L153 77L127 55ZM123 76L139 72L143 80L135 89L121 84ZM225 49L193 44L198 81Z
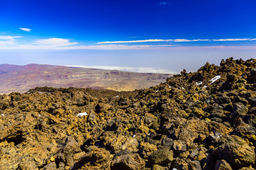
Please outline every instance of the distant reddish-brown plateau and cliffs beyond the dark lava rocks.
M171 74L132 73L53 65L0 65L0 94L35 87L83 87L133 91L165 82Z

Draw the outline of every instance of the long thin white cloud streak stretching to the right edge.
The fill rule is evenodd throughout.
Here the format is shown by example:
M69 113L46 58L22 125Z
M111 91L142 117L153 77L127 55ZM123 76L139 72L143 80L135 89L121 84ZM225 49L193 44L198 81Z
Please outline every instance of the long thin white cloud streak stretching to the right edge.
M254 41L256 39L148 39L148 40L133 40L133 41L102 41L97 44L117 44L117 43L136 43L136 42L195 42L195 41Z

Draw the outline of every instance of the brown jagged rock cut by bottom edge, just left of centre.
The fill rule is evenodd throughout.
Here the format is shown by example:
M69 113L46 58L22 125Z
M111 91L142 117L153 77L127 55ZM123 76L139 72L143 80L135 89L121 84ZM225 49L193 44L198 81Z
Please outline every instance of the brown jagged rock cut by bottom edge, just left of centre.
M144 169L145 164L139 154L122 155L114 158L111 169L139 170Z

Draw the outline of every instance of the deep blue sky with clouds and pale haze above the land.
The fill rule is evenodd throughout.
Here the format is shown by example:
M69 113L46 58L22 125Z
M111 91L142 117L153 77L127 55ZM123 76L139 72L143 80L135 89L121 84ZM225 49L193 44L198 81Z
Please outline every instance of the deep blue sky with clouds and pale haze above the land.
M1 63L195 71L255 58L256 2L0 0Z

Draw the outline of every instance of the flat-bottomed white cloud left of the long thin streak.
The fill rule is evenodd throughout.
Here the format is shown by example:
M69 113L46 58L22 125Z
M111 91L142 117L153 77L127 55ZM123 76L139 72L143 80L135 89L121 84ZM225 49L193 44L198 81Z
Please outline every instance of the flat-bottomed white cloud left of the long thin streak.
M78 44L77 42L69 42L69 39L37 39L35 40L35 44L39 45L48 45L48 46L67 46L67 45L74 45Z

